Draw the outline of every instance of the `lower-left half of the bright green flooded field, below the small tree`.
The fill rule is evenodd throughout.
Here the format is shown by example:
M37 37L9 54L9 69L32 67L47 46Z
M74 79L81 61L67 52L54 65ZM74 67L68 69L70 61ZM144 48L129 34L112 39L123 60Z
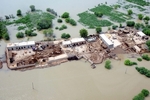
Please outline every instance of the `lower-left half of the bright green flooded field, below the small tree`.
M112 23L108 20L98 20L96 15L83 12L78 14L80 17L79 22L84 24L85 26L88 26L89 28L95 28L95 27L106 27L111 26Z

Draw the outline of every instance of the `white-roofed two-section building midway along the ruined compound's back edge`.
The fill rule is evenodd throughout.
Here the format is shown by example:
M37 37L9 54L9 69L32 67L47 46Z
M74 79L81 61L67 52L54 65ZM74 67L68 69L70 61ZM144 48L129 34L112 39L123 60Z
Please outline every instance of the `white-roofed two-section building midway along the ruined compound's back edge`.
M80 45L80 44L84 44L84 43L85 43L84 38L72 38L71 40L63 41L62 46L69 47L70 45Z

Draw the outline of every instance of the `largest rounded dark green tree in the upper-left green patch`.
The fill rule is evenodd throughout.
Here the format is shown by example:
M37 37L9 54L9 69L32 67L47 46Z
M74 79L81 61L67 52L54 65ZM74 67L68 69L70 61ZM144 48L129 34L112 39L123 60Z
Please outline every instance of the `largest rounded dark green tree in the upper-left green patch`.
M52 26L52 20L50 19L41 19L37 23L37 29L42 30L42 29L48 29Z

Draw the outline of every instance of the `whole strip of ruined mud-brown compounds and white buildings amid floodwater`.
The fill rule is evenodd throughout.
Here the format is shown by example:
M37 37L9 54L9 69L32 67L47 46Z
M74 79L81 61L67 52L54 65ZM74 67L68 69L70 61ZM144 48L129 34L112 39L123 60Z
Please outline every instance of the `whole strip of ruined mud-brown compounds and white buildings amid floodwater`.
M149 39L143 32L131 28L111 30L87 38L72 38L50 42L8 43L7 64L10 69L54 66L68 60L84 58L92 66L106 58L118 59L118 53L144 53Z

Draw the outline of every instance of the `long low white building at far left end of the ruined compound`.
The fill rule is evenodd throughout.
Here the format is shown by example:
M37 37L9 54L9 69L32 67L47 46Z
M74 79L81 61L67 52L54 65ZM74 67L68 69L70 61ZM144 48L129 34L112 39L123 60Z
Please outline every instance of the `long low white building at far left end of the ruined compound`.
M19 50L19 49L27 49L35 46L34 41L27 42L19 42L19 43L7 43L8 50Z

